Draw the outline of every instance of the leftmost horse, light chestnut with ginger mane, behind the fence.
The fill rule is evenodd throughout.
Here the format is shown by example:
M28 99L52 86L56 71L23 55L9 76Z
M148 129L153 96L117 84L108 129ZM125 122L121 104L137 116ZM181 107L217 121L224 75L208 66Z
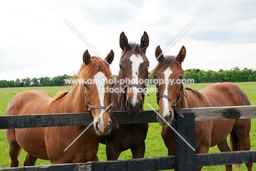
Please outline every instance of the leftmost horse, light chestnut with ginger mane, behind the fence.
M114 52L111 50L105 60L110 64L113 58ZM88 126L6 129L11 167L19 166L21 148L28 153L24 166L34 166L37 158L50 160L53 164L98 161L99 135L108 134L112 125L114 126L114 121L107 112L112 95L102 91L103 88L112 86L108 80L113 78L108 64L100 57L90 56L88 50L84 52L83 61L75 78L85 80L84 84L77 82L68 91L60 92L54 98L37 90L19 93L10 101L6 115L85 113L89 110L94 118L95 129L91 126L67 150L65 149ZM89 84L89 79L106 81L103 84L90 81Z

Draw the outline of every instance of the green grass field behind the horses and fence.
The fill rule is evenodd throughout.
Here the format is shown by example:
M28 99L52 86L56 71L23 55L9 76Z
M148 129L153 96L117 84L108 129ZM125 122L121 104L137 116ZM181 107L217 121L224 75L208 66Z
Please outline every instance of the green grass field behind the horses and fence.
M237 82L238 86L241 87L243 91L247 94L251 105L256 105L256 82ZM196 90L200 90L206 87L209 84L193 84L185 85L191 86ZM154 85L150 85L154 86ZM60 91L68 90L68 86L61 87L19 87L19 88L2 88L0 89L0 116L5 115L5 110L11 98L13 98L17 93L23 92L26 90L42 90L48 92L52 97ZM158 105L156 104L156 95L155 93L150 93L150 96L146 96L144 110L151 110L147 105L149 103L153 108L157 109ZM167 156L167 149L164 145L164 141L160 135L161 126L158 123L150 123L149 131L146 139L146 154L145 157L160 157ZM252 150L256 150L256 119L252 119L252 129L251 129L251 145ZM105 146L100 144L98 150L98 158L100 161L106 161L106 154L104 150ZM210 149L210 152L219 152L217 147ZM19 161L20 166L22 166L26 157L26 152L22 151ZM125 160L132 158L130 150L124 151L119 160ZM5 131L0 129L0 168L9 167L10 158L8 155L8 143L5 136ZM37 160L36 165L50 164L49 161ZM204 167L202 170L225 170L224 166L216 167ZM245 164L242 164L241 170L247 170ZM256 165L254 164L253 170L256 170Z

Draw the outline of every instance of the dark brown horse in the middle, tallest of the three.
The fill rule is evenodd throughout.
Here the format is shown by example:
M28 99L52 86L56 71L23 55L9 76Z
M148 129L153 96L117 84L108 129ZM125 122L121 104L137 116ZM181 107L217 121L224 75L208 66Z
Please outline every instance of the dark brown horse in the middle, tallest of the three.
M124 32L120 34L120 48L123 50L120 58L120 72L117 83L113 86L112 110L125 111L138 115L143 110L144 84L148 78L149 62L146 49L149 45L148 34L144 32L141 44L128 43ZM141 81L139 81L141 80ZM131 149L132 158L144 157L145 139L148 123L122 124L119 129L113 129L107 136L101 137L101 143L106 144L107 160L118 160L122 151Z

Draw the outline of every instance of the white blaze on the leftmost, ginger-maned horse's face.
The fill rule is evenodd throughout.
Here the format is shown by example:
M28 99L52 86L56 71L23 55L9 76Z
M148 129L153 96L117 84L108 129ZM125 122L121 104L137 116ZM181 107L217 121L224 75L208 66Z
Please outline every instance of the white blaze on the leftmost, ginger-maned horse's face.
M97 91L98 91L98 98L100 99L101 106L103 107L104 106L104 103L103 103L104 95L105 95L103 92L103 89L105 87L105 82L107 81L107 77L102 72L98 72L97 74L94 75L94 80L95 80L95 82L100 80L100 82L96 82L96 87L97 87ZM102 80L105 80L105 81L102 81ZM103 109L101 109L101 113L102 112L103 112ZM99 124L104 125L102 115L100 116Z

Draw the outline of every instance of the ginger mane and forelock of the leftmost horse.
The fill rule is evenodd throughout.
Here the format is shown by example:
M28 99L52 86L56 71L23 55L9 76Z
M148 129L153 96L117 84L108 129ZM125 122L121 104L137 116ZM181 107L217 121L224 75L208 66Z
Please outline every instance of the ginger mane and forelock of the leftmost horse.
M108 67L108 64L104 60L102 60L101 57L91 56L91 62L88 65L86 65L83 62L78 73L73 75L73 79L85 79L85 78L95 75L99 71L102 71L104 73L104 75L106 75L108 77L111 77L111 78L113 77L112 73ZM73 87L73 85L71 85L71 88L68 91L62 91L62 92L57 93L48 102L48 105L50 105L54 101L57 101L58 99L61 99L62 97L67 95L67 93L70 92L72 87Z

